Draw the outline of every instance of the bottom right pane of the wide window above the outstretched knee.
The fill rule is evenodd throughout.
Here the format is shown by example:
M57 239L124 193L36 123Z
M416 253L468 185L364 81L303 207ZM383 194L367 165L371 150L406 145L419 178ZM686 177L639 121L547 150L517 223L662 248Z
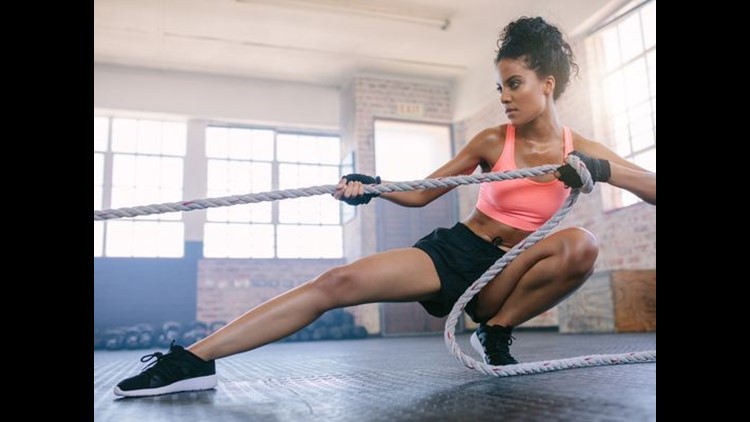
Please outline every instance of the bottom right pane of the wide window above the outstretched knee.
M341 226L278 226L279 258L341 258Z

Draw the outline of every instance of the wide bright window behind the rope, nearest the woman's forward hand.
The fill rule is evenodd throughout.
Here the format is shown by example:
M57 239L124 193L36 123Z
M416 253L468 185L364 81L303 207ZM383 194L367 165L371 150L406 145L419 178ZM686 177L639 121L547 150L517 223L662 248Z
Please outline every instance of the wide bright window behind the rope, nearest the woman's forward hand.
M340 139L268 129L210 126L208 196L335 183ZM340 258L341 209L327 196L208 210L203 255L222 258Z

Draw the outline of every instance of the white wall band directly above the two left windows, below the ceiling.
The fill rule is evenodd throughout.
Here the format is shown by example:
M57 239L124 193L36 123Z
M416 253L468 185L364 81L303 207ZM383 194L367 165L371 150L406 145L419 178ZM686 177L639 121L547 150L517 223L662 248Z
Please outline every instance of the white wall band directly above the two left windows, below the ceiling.
M94 108L279 127L339 129L339 90L94 63Z

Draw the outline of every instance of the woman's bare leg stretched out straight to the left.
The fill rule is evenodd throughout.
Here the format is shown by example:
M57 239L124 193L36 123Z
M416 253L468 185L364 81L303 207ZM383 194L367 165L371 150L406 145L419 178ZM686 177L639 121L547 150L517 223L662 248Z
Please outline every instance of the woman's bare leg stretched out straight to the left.
M326 271L245 312L188 349L204 360L223 358L284 338L330 309L424 300L439 291L440 279L425 252L382 252Z

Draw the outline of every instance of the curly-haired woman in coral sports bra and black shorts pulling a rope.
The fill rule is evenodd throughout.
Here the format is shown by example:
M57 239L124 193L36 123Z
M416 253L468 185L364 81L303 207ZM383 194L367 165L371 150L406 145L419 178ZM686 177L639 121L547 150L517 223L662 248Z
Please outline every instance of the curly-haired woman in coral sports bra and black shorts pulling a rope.
M576 151L595 181L626 189L656 204L656 175L600 143L563 126L555 100L577 71L570 45L542 18L521 18L505 27L495 58L498 91L509 124L476 135L430 178L506 171L563 163ZM447 315L458 297L505 251L539 228L580 180L562 166L555 175L484 183L476 209L451 229L440 228L414 247L390 250L332 268L240 316L188 349L172 346L139 375L120 382L115 394L150 396L216 385L215 359L284 338L324 312L383 301L419 301L432 315ZM562 180L556 179L559 178ZM379 179L347 175L334 197L367 203L364 184ZM429 204L450 189L385 193L408 207ZM467 305L480 323L472 346L487 363L517 363L509 346L513 327L550 309L580 287L594 268L595 237L581 228L558 231L520 254Z

